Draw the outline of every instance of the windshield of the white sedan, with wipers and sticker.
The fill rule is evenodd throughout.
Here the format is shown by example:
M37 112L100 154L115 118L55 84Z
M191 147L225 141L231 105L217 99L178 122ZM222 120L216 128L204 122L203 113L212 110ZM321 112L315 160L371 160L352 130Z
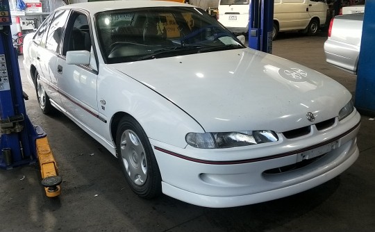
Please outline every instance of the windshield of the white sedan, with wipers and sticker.
M137 8L95 15L106 63L124 63L243 48L235 36L200 8Z

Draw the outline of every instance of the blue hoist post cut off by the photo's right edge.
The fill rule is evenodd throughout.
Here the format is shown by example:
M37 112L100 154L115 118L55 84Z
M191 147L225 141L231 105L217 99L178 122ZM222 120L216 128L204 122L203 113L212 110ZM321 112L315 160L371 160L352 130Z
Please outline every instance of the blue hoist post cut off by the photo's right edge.
M355 106L365 115L375 115L375 1L366 1L358 60Z

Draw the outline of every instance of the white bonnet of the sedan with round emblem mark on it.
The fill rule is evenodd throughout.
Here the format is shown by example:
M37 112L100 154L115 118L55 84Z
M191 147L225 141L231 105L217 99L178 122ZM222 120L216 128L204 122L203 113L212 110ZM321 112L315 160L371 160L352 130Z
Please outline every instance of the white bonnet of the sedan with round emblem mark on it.
M350 92L328 76L253 49L109 65L197 120L205 131L289 131L336 117ZM313 113L315 122L306 115Z

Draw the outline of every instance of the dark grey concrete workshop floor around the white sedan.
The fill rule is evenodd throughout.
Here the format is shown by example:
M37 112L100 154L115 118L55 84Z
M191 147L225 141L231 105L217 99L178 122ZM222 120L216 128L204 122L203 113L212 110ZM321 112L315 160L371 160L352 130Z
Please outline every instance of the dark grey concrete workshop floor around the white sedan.
M273 53L331 76L354 92L356 76L324 60L326 35L285 34ZM22 57L20 57L22 60ZM20 63L28 117L47 133L63 177L49 199L38 165L0 170L0 231L375 231L375 121L362 116L360 157L337 178L291 197L203 208L131 192L115 157L64 115L43 115Z

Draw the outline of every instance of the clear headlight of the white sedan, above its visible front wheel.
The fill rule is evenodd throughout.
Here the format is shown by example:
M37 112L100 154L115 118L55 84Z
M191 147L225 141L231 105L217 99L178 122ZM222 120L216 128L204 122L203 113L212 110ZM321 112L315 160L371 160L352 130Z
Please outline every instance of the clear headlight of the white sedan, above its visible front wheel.
M242 147L265 142L275 142L278 137L274 131L240 131L217 133L188 133L186 142L197 148Z

